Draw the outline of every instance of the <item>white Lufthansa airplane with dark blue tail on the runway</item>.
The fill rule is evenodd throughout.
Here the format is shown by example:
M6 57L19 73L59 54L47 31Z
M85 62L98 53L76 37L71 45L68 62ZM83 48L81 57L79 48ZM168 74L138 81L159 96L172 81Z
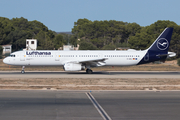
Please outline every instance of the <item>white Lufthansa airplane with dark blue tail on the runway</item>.
M91 74L91 67L140 65L176 56L168 52L172 32L173 28L166 28L146 50L25 50L13 52L3 62L22 66L21 73L25 73L25 66L63 66L65 71L86 69Z

